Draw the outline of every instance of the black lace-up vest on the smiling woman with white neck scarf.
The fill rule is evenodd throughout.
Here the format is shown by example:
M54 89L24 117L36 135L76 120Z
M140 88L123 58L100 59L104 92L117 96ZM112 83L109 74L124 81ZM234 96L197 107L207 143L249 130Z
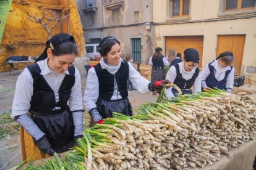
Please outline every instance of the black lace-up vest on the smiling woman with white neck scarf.
M109 73L106 69L102 69L100 63L95 65L94 68L99 81L100 99L110 101L114 92L114 78L116 78L118 91L122 99L128 97L127 81L129 78L129 65L127 62L122 62L119 70L114 75Z

